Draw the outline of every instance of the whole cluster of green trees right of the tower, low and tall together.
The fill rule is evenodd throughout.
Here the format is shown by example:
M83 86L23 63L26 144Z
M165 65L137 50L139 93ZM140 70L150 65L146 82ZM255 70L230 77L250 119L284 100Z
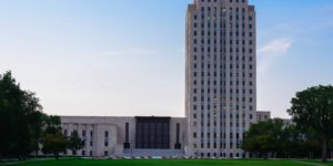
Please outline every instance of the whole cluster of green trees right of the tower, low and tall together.
M313 86L297 92L287 113L294 125L280 118L251 125L242 148L252 157L319 158L333 151L333 86Z

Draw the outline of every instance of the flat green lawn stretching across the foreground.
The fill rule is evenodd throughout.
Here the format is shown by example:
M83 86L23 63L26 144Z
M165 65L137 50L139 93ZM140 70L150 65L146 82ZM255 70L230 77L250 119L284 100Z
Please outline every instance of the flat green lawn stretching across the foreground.
M1 165L1 164L0 164ZM2 164L3 165L3 164ZM37 160L26 163L9 163L10 166L333 166L333 163L320 163L316 160L246 160L246 159L191 159L191 160L105 160L105 159L60 159Z

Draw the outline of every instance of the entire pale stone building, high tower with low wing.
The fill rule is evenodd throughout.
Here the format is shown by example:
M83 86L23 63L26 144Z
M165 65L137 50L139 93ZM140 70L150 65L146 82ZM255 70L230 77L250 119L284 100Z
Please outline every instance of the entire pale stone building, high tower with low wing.
M185 117L61 116L84 141L62 155L245 157L256 111L256 15L248 0L194 0L185 15Z

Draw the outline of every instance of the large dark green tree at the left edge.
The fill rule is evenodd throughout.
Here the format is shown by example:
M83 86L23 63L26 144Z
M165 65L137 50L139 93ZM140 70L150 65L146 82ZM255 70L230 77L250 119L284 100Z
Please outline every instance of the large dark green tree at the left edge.
M0 75L0 158L24 159L37 149L42 115L34 93L21 90L11 72Z

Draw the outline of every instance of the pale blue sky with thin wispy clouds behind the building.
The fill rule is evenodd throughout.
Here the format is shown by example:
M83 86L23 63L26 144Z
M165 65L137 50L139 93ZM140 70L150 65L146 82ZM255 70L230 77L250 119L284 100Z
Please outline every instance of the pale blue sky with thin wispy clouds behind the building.
M58 115L184 116L192 0L0 0L0 72ZM258 110L287 117L296 91L333 83L332 0L250 0Z

